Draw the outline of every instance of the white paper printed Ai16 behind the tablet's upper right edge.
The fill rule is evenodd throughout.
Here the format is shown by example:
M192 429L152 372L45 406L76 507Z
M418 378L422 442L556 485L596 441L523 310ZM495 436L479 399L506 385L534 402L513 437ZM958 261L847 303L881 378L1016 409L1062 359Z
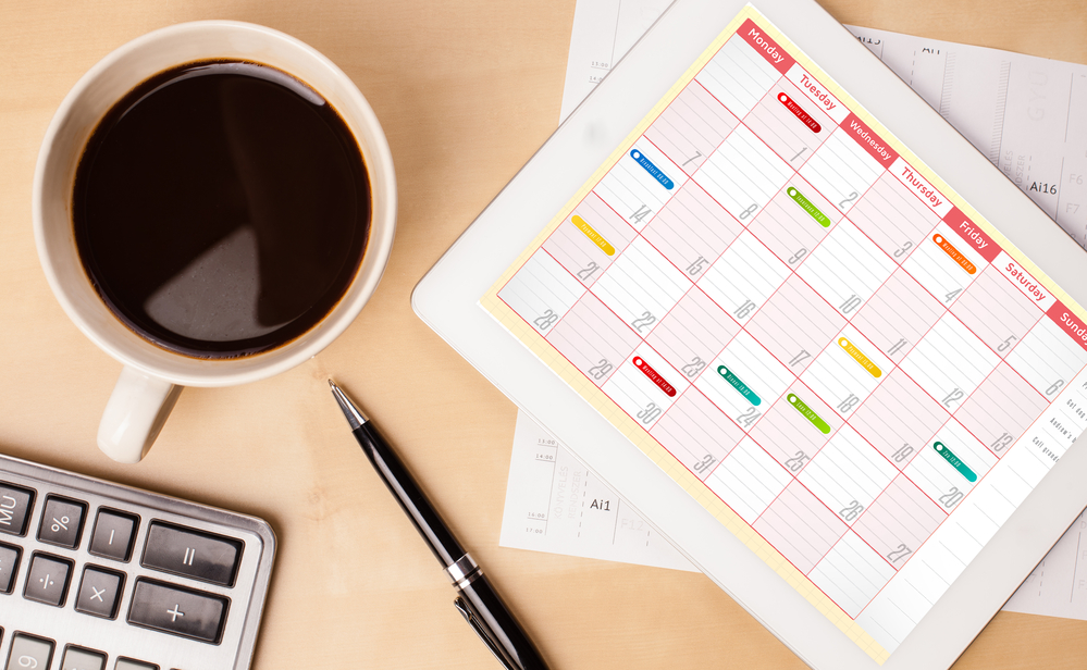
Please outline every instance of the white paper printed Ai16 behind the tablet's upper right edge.
M1087 247L1087 65L845 27Z

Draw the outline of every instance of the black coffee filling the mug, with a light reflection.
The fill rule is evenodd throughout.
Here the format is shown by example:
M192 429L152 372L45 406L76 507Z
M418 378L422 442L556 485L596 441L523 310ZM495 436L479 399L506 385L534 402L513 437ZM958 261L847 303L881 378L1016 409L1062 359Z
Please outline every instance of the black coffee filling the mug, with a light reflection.
M350 129L265 65L190 63L120 100L76 171L79 257L133 331L200 358L264 351L344 296L370 226Z

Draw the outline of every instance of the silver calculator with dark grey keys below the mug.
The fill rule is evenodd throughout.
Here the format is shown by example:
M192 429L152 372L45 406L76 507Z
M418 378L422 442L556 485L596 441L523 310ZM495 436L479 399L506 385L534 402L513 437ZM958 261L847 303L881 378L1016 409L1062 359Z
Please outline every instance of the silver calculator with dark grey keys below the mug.
M0 669L248 668L263 520L0 455Z

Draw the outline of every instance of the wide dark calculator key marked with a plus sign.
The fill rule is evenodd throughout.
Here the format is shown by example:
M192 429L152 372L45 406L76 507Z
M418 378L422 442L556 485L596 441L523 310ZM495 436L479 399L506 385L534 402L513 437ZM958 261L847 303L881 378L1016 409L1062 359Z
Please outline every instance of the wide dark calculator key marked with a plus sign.
M226 598L208 593L137 580L128 623L218 644L226 605Z

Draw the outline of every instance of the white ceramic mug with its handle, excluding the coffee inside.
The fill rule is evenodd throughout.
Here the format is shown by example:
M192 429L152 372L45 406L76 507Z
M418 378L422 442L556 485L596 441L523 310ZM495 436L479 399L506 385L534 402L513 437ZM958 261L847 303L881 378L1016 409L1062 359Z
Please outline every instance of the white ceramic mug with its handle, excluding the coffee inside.
M210 58L271 65L324 96L358 141L371 190L370 238L343 299L299 337L237 359L190 358L128 330L91 285L79 262L72 224L76 166L107 111L152 75ZM34 234L49 285L79 330L124 364L99 425L98 446L114 460L137 462L155 442L183 386L254 382L313 357L351 323L373 294L395 227L396 177L378 117L350 78L313 48L263 26L200 21L149 33L107 55L64 98L46 132L34 175Z

